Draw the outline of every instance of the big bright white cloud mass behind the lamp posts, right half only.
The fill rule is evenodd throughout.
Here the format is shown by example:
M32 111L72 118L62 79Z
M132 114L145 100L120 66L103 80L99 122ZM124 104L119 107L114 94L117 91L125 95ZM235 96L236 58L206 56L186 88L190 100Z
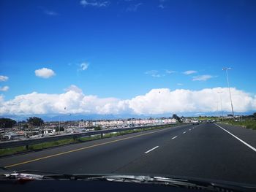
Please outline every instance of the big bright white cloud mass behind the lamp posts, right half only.
M167 88L153 89L144 96L129 101L129 107L136 114L163 114L170 112L215 112L219 101L218 91L222 91L222 107L230 111L228 88L206 88L201 91ZM233 106L236 112L256 110L255 96L231 88Z

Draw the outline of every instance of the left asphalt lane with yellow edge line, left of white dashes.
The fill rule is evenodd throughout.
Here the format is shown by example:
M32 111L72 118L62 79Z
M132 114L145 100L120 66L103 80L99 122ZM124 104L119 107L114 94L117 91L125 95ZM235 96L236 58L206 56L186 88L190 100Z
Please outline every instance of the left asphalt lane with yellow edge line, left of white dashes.
M129 161L138 158L149 146L159 144L159 138L162 138L161 143L166 142L170 134L177 134L187 127L189 128L190 125L145 131L1 158L0 165L15 170L40 169L69 173L112 172L118 166L124 166ZM163 139L165 137L166 139Z

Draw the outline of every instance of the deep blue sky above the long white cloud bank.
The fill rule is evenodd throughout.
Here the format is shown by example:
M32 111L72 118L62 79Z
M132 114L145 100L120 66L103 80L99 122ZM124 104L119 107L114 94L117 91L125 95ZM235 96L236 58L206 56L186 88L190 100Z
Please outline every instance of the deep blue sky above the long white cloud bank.
M70 85L117 99L156 88L225 88L225 66L231 87L255 96L256 1L11 0L0 7L4 101ZM42 68L55 75L36 76Z

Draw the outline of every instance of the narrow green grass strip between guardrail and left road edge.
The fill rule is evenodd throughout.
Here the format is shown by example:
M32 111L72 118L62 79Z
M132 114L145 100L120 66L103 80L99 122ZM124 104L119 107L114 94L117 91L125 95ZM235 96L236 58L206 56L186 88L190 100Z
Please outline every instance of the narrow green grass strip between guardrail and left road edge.
M105 134L103 138L116 137L116 136L120 136L120 135L124 135L124 134L132 134L132 133L137 133L137 132L141 132L141 131L148 131L148 130L165 128L165 127L170 127L170 126L177 126L177 125L181 125L181 123L173 124L173 125L163 125L163 126L157 126L157 127L151 127L151 128L138 128L135 130L120 131L117 133L108 133L108 134ZM29 151L34 151L34 150L42 150L45 148L57 147L57 146L61 146L61 145L68 145L68 144L78 143L78 142L88 142L88 141L95 140L95 139L101 139L101 136L96 135L93 137L80 137L80 138L76 138L76 139L62 139L62 140L58 140L58 141L54 141L54 142L44 142L44 143L40 143L40 144L29 145L28 149L26 148L26 146L0 149L0 156L13 155L13 154L17 154L17 153L29 152Z

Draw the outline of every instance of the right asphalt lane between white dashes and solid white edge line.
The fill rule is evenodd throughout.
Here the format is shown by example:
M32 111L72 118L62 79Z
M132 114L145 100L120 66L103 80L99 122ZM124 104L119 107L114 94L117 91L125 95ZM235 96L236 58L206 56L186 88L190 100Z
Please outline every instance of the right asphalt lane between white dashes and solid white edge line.
M256 132L255 132L256 134ZM256 155L212 123L201 124L117 174L159 174L256 184Z

